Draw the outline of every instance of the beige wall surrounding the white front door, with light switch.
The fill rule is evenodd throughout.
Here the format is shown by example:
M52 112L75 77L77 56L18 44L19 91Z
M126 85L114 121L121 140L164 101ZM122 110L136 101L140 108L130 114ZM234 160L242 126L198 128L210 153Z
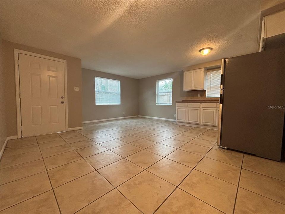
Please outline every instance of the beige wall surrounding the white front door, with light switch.
M1 40L1 145L17 135L14 48L66 60L69 128L82 126L81 59ZM74 91L79 86L79 91Z

